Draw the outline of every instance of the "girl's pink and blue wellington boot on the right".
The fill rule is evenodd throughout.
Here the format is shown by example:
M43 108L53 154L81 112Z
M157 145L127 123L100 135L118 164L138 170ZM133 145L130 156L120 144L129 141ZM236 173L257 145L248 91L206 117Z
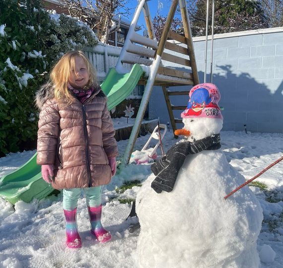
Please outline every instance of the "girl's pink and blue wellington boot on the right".
M91 224L91 233L96 236L99 242L105 243L111 240L111 234L102 227L100 221L102 206L87 206L87 210Z

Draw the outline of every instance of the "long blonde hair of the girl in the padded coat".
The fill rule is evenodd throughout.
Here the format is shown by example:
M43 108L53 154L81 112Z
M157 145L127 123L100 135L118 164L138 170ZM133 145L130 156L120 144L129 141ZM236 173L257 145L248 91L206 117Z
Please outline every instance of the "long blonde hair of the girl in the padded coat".
M74 97L68 90L68 81L72 70L75 69L75 57L81 57L87 66L89 81L85 87L98 86L96 80L96 71L88 59L84 56L84 53L82 51L67 52L50 72L50 79L55 88L55 99L58 103L63 103L63 101L65 103L65 101L67 101L66 106L71 104L74 100Z

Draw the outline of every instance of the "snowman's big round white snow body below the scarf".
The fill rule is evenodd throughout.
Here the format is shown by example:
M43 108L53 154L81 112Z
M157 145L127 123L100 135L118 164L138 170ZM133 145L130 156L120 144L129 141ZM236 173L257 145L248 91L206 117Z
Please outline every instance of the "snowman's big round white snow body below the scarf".
M187 156L171 193L155 193L151 175L137 197L140 267L257 268L262 209L220 150Z

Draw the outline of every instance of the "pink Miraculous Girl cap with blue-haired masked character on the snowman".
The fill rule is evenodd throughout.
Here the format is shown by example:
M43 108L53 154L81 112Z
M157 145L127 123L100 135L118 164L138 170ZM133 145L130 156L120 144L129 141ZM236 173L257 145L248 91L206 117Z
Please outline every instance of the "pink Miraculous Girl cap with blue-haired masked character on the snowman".
M221 115L218 102L220 92L216 85L203 83L195 85L189 93L188 106L181 113L182 118L219 118Z

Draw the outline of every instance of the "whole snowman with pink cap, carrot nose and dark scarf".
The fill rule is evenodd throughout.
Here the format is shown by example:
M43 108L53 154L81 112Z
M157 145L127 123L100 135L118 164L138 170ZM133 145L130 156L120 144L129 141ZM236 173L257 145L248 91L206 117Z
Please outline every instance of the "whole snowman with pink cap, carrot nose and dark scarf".
M137 196L141 268L258 268L259 201L220 148L220 93L194 86L181 114L185 137L152 164Z

